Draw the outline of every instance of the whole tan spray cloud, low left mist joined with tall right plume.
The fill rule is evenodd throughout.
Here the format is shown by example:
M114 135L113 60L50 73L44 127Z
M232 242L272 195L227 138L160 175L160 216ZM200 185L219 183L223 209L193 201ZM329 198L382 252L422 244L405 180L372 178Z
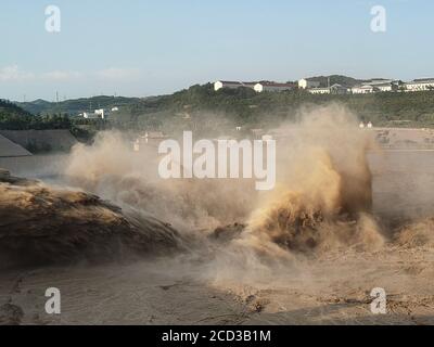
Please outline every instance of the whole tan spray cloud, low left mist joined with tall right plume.
M156 146L133 152L115 132L101 133L91 147L77 145L66 175L72 184L199 239L216 228L245 224L229 239L260 254L275 249L270 243L303 253L381 245L370 215L367 151L373 142L369 131L358 128L357 117L336 104L304 108L278 133L284 136L277 137L277 188L265 194L248 180L163 180Z

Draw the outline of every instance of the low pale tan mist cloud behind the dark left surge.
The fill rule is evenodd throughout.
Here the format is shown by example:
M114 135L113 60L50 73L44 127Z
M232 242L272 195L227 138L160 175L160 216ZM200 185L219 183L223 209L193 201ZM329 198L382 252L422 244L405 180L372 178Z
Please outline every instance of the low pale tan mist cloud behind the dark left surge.
M146 211L184 232L207 231L245 219L256 192L245 180L164 180L156 146L133 152L118 132L103 132L92 146L77 145L65 170L68 182L120 206ZM196 233L200 235L200 233Z

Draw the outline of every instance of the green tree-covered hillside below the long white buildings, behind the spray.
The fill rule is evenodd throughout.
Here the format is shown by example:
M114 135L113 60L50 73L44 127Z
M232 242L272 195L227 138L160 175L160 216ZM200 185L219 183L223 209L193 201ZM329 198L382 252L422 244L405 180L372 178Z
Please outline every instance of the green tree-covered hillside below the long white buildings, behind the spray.
M191 124L206 127L231 121L251 127L271 127L295 119L304 105L337 102L361 120L375 126L434 127L434 92L383 92L373 94L310 94L305 90L256 93L247 88L214 91L213 85L154 99L140 100L110 120L114 127L170 129Z

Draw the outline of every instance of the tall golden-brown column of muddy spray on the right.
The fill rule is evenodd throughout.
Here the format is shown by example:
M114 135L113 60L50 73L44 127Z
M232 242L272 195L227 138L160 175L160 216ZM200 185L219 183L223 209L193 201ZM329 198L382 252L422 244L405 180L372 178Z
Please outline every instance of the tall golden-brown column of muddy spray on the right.
M379 246L370 216L369 132L339 105L303 111L282 141L278 187L252 214L250 232L294 252L333 246Z

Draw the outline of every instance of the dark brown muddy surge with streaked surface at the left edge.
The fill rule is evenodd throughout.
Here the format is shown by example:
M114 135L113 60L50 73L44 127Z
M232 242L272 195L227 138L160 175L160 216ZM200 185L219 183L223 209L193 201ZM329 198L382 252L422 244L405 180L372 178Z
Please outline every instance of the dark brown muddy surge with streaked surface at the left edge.
M180 245L154 218L124 214L95 195L0 177L0 264L103 261Z

